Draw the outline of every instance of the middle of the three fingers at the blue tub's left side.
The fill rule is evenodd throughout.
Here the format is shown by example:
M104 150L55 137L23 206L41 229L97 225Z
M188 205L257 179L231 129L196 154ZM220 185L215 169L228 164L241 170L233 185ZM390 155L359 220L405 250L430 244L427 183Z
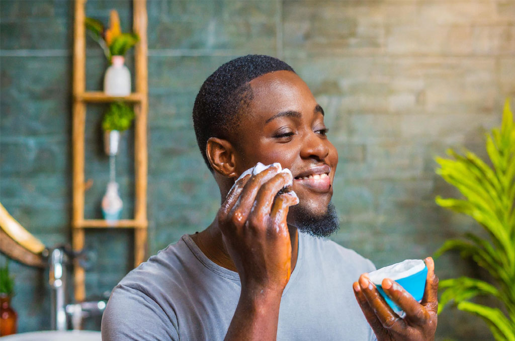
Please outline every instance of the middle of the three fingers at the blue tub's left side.
M401 331L404 328L404 320L386 303L367 274L363 274L359 277L359 286L383 327L397 332Z

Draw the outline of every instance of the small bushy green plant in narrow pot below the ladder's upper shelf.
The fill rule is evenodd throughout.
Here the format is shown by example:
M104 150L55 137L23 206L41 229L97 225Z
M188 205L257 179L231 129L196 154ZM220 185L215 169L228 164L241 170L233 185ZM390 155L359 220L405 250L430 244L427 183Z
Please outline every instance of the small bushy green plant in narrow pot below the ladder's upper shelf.
M134 120L134 110L123 101L112 103L102 119L104 130L104 150L108 156L118 153L120 132L130 128Z

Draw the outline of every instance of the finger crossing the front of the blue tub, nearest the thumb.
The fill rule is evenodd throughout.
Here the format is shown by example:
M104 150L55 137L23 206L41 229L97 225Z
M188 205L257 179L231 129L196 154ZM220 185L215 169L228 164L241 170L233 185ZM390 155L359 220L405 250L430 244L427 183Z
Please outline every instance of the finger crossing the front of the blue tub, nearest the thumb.
M381 285L391 300L406 313L406 319L416 325L423 325L429 318L424 306L420 305L399 283L385 278Z

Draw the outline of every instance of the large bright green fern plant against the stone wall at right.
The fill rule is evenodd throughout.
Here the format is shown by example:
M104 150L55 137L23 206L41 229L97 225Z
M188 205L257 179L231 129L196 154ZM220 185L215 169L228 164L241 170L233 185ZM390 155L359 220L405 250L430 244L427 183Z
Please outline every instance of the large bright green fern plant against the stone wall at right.
M436 173L454 185L465 197L442 198L436 203L474 218L489 235L465 234L462 239L446 241L435 258L448 250L458 250L462 257L472 259L485 268L493 282L460 277L440 281L444 289L438 313L454 301L461 310L483 318L496 340L515 341L515 125L506 100L500 129L487 134L486 150L493 167L465 150L463 155L452 149L452 159L436 158L440 165ZM471 301L476 296L491 296L504 311Z

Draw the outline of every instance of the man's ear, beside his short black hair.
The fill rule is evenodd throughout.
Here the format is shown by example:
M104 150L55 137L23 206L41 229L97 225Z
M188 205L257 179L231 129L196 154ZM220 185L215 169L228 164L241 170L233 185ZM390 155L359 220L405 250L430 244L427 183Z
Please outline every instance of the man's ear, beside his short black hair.
M229 141L209 138L205 154L216 173L226 178L236 176L235 149Z

